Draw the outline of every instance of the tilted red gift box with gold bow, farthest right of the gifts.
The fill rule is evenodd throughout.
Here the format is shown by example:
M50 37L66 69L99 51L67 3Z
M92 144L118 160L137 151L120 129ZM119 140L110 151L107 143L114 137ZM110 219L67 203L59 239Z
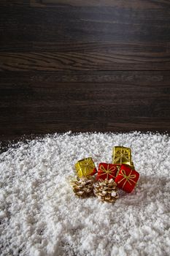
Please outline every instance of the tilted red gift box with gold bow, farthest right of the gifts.
M128 165L121 165L115 182L117 183L117 187L123 189L125 192L131 193L138 179L139 173L136 170L133 170Z

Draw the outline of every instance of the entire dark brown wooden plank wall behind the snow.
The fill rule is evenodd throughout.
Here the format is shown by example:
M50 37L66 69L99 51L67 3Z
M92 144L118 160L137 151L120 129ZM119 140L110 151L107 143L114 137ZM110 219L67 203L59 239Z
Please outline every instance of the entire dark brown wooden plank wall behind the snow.
M39 3L0 1L1 140L170 132L170 1Z

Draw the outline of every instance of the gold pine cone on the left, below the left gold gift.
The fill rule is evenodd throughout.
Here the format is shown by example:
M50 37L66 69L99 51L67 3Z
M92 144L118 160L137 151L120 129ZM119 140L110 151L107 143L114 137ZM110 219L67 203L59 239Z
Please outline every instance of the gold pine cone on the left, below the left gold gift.
M81 178L77 177L75 181L70 182L73 188L73 192L79 197L88 197L93 195L93 183L93 177L85 176L82 176Z

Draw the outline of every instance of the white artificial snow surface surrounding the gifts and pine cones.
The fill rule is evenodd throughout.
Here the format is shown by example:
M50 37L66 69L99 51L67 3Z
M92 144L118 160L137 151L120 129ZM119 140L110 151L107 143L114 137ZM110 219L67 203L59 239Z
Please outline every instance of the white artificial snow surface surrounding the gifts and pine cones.
M112 163L128 146L139 184L115 204L74 196L68 176L85 157ZM55 134L0 155L0 255L137 256L170 252L170 138L130 134Z

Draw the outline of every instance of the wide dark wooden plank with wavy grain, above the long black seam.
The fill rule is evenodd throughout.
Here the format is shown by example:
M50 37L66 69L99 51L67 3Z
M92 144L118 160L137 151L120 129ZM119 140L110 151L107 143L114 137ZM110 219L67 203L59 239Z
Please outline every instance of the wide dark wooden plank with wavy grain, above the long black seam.
M170 8L149 3L1 7L0 70L169 70Z

